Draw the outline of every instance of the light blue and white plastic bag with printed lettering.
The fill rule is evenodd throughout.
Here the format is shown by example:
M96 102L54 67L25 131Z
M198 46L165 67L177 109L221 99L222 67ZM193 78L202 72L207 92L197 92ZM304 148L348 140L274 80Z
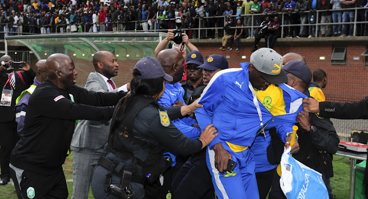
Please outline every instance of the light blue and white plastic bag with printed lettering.
M281 156L280 186L288 199L328 199L322 175L295 160L291 147Z

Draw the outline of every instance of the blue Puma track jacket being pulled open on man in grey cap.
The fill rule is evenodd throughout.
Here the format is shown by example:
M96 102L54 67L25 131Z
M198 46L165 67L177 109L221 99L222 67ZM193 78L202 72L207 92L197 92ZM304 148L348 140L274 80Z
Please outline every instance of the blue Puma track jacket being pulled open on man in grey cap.
M254 98L249 88L249 63L240 63L241 68L217 72L203 91L199 103L203 108L195 112L202 131L214 124L219 135L210 142L210 149L216 143L226 141L239 146L251 146L257 131L262 127ZM276 127L280 139L285 142L286 134L292 132L296 114L302 110L302 99L306 96L288 85L283 89L286 104L284 115L273 116L259 102L263 125Z

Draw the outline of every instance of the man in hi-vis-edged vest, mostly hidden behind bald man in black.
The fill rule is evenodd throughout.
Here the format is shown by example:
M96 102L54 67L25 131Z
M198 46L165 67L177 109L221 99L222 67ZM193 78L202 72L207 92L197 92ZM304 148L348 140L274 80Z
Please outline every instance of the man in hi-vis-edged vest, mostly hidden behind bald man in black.
M15 105L15 121L18 123L17 131L20 134L24 126L24 118L26 116L28 100L37 85L46 80L45 71L46 59L41 59L36 63L36 77L33 79L33 85L24 90L16 100Z

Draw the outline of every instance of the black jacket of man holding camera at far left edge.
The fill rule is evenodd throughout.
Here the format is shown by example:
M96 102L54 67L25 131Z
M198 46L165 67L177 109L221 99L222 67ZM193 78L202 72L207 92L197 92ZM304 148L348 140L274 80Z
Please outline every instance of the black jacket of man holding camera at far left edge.
M22 79L19 77L17 73L15 74L15 89L13 90L13 97L11 99L11 106L0 106L0 122L7 122L12 121L15 119L15 100L19 97L19 95L23 92L23 90L26 90L30 85L33 84L33 79L36 76L36 73L30 69L28 71L21 71L22 77L26 83L26 85L23 84ZM6 71L0 73L0 93L2 92L2 88L5 85L6 81L8 80L8 75L6 74ZM5 86L5 89L10 89L10 83L8 83Z

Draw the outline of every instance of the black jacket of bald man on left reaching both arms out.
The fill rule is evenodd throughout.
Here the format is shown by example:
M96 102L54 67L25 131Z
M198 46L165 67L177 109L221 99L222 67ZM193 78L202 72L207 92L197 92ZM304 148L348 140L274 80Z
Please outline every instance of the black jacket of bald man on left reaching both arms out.
M75 120L109 120L113 106L125 92L93 92L73 86L63 90L49 81L38 85L29 98L24 129L10 162L39 174L62 171L74 133ZM72 102L74 99L75 103Z

